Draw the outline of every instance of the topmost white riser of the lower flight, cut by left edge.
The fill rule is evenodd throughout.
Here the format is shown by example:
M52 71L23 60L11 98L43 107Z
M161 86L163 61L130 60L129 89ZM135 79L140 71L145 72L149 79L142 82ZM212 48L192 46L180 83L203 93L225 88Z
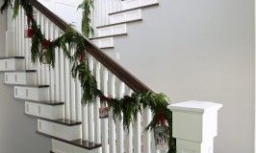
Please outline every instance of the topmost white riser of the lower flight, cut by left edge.
M25 70L24 59L12 58L0 60L0 71Z

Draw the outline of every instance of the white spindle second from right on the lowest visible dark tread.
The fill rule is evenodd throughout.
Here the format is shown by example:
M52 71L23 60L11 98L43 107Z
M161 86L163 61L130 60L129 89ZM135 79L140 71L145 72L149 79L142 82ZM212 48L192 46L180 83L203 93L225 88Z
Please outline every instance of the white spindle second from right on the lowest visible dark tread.
M88 54L88 65L90 71L93 72L93 60L92 56ZM89 120L89 142L94 142L94 120L93 120L93 104L88 106L88 120Z

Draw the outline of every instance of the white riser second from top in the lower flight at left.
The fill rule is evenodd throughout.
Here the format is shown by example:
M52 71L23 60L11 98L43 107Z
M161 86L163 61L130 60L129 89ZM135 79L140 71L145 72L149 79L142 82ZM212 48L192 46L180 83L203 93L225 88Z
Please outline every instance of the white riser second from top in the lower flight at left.
M7 84L37 84L36 73L5 73Z

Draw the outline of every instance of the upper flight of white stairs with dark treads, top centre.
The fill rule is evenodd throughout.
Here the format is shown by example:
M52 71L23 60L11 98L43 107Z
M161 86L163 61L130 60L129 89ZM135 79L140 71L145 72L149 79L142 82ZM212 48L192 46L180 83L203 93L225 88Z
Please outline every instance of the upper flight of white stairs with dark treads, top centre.
M142 21L142 10L158 6L157 0L110 0L106 8L101 8L100 0L94 1L95 10L92 11L92 27L95 31L90 38L101 49L114 48L114 39L128 35L129 24Z

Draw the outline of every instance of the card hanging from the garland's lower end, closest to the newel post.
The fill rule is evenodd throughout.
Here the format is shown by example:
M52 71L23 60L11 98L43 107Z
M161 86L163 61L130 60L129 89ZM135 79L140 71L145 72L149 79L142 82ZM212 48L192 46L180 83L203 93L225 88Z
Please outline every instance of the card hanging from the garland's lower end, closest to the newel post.
M169 136L167 133L167 126L158 124L154 129L154 138L157 150L167 150Z

